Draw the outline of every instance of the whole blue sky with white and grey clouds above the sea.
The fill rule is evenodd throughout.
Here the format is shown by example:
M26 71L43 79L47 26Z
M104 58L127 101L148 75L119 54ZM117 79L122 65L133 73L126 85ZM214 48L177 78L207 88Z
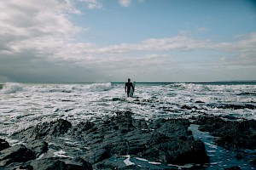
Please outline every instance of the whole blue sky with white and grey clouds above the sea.
M256 80L256 1L0 0L0 82Z

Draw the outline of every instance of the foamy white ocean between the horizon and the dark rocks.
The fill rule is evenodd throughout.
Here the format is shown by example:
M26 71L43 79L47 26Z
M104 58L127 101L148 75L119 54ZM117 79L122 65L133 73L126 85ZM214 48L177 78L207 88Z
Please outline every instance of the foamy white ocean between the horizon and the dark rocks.
M256 119L255 82L169 83L137 82L133 98L125 83L15 83L0 86L0 136L66 119L99 122L117 111L134 118L189 118L201 115ZM10 140L9 140L10 141Z

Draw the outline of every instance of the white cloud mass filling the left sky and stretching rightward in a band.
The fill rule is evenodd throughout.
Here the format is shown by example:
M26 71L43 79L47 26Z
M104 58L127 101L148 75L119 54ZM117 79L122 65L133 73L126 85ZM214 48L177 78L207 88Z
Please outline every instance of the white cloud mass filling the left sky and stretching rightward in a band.
M101 1L79 1L88 4L88 8L102 8ZM86 77L88 79L83 81L92 82L95 78L103 80L108 74L121 77L119 72L126 74L131 68L135 76L138 70L145 75L154 71L168 75L173 63L179 66L172 52L200 49L223 53L223 60L216 62L218 66L256 65L256 32L234 42L211 42L188 34L102 47L91 42L76 42L73 36L83 28L75 26L69 18L70 13L81 14L74 3L73 0L27 0L26 3L9 0L0 3L1 79L21 80L23 72L23 78L30 75L30 80L40 77L55 80L61 75L63 80L68 76L77 77L76 80ZM131 1L119 3L131 5ZM34 75L36 73L39 76Z

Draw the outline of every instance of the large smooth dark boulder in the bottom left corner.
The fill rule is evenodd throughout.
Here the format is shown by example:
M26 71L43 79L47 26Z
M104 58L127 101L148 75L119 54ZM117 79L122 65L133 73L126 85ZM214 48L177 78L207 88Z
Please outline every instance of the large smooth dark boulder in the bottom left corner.
M0 166L7 166L12 162L26 162L35 159L36 156L25 145L15 145L0 152Z

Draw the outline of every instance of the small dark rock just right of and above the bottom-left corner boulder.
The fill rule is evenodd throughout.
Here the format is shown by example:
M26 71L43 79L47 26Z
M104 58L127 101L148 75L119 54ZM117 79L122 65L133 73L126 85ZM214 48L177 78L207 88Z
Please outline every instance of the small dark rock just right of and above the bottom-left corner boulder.
M34 140L26 145L27 148L31 149L35 156L40 156L48 150L48 143L41 140Z

